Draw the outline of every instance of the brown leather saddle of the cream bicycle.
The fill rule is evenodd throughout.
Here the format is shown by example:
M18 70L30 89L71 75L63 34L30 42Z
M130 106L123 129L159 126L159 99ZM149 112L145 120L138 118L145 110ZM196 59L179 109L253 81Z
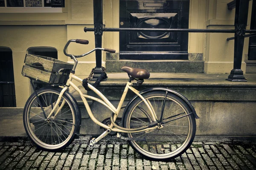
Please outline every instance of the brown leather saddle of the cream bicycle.
M131 77L135 79L148 79L150 77L150 73L142 68L132 68L132 67L122 67L122 71L128 73Z

